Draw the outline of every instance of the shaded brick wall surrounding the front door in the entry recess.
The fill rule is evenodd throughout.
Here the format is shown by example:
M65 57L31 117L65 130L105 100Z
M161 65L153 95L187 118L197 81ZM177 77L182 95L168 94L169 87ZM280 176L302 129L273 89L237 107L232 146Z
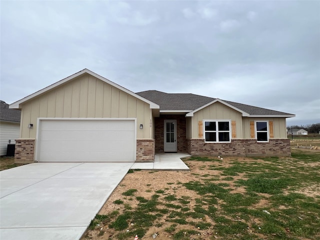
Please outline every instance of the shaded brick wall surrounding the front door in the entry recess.
M155 152L164 152L164 120L176 120L177 152L186 152L186 120L184 115L161 114L154 120Z

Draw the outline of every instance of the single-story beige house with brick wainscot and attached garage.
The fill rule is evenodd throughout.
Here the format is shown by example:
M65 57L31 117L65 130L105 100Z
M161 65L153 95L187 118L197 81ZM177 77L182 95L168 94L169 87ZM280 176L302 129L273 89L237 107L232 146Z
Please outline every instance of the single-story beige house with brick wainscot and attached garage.
M290 155L295 115L190 93L134 93L83 69L12 104L15 161L153 161L156 152Z

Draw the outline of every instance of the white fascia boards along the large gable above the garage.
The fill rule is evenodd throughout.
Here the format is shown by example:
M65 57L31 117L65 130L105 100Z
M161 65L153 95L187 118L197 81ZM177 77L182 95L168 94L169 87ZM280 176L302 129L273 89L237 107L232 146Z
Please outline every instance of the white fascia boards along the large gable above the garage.
M95 78L98 78L98 79L110 84L111 86L114 86L114 87L116 87L116 88L128 93L129 95L132 95L132 96L140 99L141 101L144 101L144 102L148 103L150 105L151 109L152 108L155 108L155 109L159 109L160 108L160 106L158 104L156 104L156 103L154 103L154 102L152 102L152 101L150 101L150 100L148 100L148 99L146 99L146 98L144 98L142 96L139 96L138 94L135 94L134 92L124 88L123 86L120 86L120 85L114 83L113 81L110 81L110 80L106 79L105 77L100 76L100 75L96 74L95 72L90 71L89 69L86 69L86 68L84 68L83 70L81 70L79 72L76 72L76 73L74 73L74 74L72 74L72 75L70 75L70 76L68 76L66 78L63 78L62 80L59 80L59 81L57 81L57 82L55 82L55 83L53 83L53 84L51 84L51 85L49 85L47 87L44 87L41 90L38 90L38 91L36 91L36 92L34 92L34 93L32 93L32 94L30 94L30 95L18 100L18 101L15 101L15 102L11 103L9 105L9 108L20 108L20 104L21 103L23 103L23 102L25 102L25 101L27 101L27 100L35 97L35 96L38 96L38 95L44 93L45 91L48 91L48 90L50 90L50 89L52 89L52 88L54 88L54 87L56 87L58 85L61 85L61 84L65 83L65 82L67 82L67 81L69 81L69 80L71 80L71 79L73 79L75 77L78 77L78 76L80 76L80 75L82 75L84 73L88 73L88 74L94 76Z

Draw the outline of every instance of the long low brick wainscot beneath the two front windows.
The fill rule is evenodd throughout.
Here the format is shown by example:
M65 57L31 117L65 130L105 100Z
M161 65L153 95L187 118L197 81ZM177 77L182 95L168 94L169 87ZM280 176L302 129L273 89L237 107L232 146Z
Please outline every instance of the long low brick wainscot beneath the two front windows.
M205 143L204 139L187 139L187 152L191 155L222 156L290 156L289 139L231 139L226 143Z

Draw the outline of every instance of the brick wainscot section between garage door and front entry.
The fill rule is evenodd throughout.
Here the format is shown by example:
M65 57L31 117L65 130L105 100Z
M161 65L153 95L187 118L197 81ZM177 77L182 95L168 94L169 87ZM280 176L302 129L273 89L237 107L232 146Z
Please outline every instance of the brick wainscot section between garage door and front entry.
M154 139L136 139L136 162L154 161Z

